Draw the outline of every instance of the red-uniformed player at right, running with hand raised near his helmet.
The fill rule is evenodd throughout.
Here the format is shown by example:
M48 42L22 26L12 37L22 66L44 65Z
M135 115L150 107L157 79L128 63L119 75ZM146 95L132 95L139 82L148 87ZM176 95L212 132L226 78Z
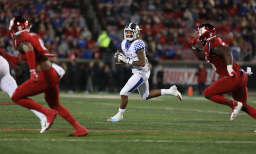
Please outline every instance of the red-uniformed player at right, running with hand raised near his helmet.
M251 68L244 71L233 61L233 56L227 45L216 36L215 28L208 23L197 28L194 38L189 41L193 52L199 60L207 63L221 76L220 79L207 87L203 95L216 103L225 104L232 108L230 120L233 120L240 109L256 119L256 109L247 104L246 83L247 74L252 74ZM202 44L204 49L197 46ZM233 100L223 94L231 93Z

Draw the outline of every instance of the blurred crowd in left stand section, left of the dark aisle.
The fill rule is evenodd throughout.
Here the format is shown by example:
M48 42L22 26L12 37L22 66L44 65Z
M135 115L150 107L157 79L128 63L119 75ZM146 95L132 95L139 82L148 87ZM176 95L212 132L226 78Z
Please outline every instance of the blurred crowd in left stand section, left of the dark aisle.
M58 57L98 58L94 57L95 40L78 6L78 0L0 0L0 47L18 55L8 25L13 16L22 15L32 25L30 32L38 33L45 47Z

